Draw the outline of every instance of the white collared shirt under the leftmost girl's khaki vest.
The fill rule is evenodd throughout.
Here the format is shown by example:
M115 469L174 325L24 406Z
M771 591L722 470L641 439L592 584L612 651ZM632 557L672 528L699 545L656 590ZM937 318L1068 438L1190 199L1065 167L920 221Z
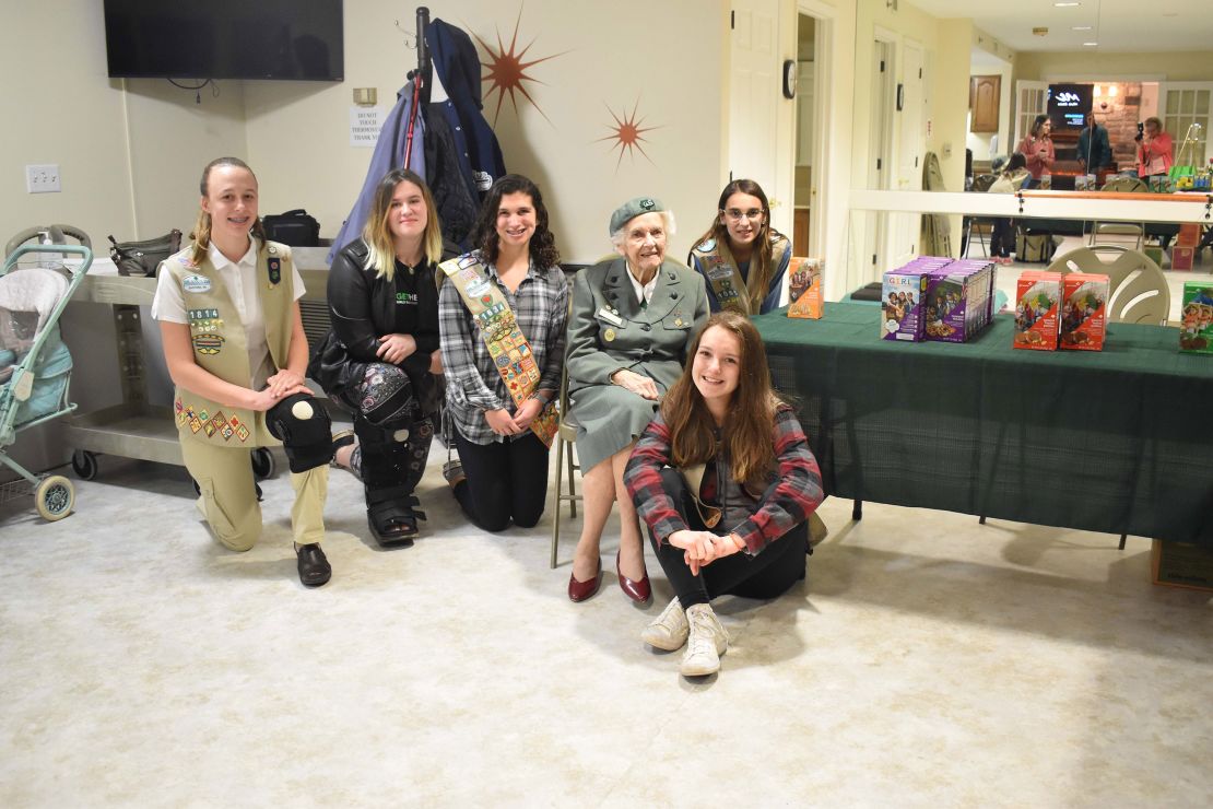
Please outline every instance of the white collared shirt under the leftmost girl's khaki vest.
M228 297L232 298L237 314L240 315L240 325L244 327L249 348L249 368L252 371L249 387L254 391L263 388L266 380L274 374L274 364L269 357L269 343L266 341L266 320L261 313L261 298L257 297L257 240L250 239L247 252L235 263L220 252L213 241L206 250L211 263L215 264L220 278L223 279L223 286L227 289ZM294 263L291 266L294 268L295 300L297 301L303 297L303 278L300 275L298 268ZM160 273L155 298L152 301L152 317L166 323L189 323L186 317L186 302L181 287L170 280L169 273Z

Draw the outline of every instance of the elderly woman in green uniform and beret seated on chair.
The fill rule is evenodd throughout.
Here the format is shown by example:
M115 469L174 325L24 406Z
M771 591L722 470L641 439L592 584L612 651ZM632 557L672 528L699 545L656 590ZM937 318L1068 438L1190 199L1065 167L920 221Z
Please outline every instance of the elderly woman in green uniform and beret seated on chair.
M708 313L702 279L666 258L673 232L673 213L659 200L630 200L610 217L610 239L620 257L583 269L573 285L566 366L585 485L585 520L569 576L574 602L598 591L599 540L614 502L620 511L619 585L638 603L651 597L623 467L661 397L682 374L687 349Z

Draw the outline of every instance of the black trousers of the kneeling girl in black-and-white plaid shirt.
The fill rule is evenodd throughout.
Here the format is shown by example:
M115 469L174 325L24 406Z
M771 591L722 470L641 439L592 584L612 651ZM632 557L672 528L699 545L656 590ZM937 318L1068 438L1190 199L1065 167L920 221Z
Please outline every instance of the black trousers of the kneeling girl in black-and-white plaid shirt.
M535 433L516 440L473 444L454 429L455 448L467 479L455 486L455 500L485 531L503 531L511 519L534 528L547 500L547 448Z

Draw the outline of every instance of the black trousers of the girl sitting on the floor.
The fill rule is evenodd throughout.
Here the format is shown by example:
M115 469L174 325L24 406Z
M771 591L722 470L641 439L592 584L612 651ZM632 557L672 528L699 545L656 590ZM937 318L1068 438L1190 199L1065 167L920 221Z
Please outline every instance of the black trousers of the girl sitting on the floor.
M661 484L671 495L678 513L687 520L693 531L708 530L700 519L699 508L687 491L677 469L661 471ZM717 526L717 534L727 534L728 529ZM740 596L742 598L776 598L787 592L796 582L804 579L805 554L809 552L809 524L801 523L791 531L769 542L757 556L734 553L712 562L694 575L683 558L683 549L672 545L657 545L653 531L649 542L657 554L657 562L666 572L666 579L673 585L674 593L683 609L694 604L707 604L718 596Z

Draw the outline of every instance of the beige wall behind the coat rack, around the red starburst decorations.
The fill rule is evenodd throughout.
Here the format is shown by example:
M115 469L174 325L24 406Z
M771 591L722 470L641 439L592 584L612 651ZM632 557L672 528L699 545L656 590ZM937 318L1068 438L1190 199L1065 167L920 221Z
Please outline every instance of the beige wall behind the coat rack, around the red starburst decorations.
M494 130L506 167L540 183L565 260L587 262L609 251L610 212L639 194L656 195L676 212L672 255L685 256L711 218L722 184L721 6L718 0L522 6L519 49L530 44L528 61L554 57L528 70L536 79L528 90L542 113L520 97L516 112L507 98ZM354 7L346 4L343 84L245 86L249 154L264 189L263 207L307 207L330 237L349 212L371 156L370 149L348 146L352 90L376 87L380 103L389 106L416 59L392 24L400 18L399 4L359 0L357 13ZM509 44L519 13L517 5L494 0L429 8L494 46L499 33ZM411 25L412 18L400 22ZM494 93L485 103L490 124L496 101ZM637 102L643 126L654 127L644 133L649 156L619 161L619 152L599 138L610 135L609 110L630 114Z

